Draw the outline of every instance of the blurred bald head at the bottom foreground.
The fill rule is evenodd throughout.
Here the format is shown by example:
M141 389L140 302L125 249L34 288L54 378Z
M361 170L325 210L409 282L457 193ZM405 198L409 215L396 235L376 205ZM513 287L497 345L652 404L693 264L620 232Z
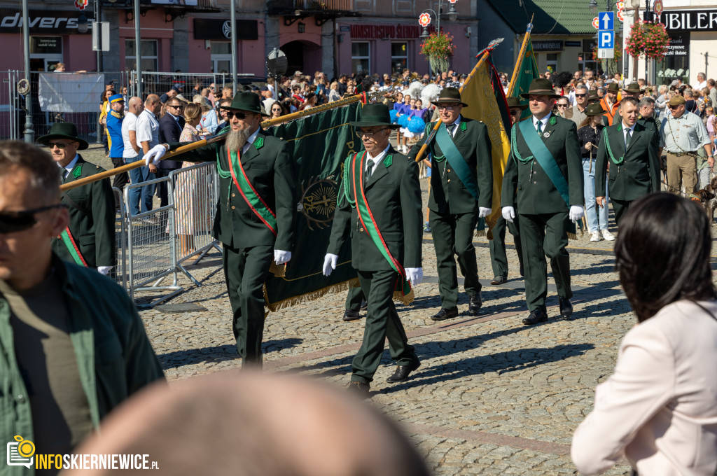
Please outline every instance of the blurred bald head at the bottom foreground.
M148 454L158 473L423 476L397 426L352 395L297 376L222 372L138 394L77 454ZM73 470L75 475L120 470ZM154 474L154 473L153 473Z

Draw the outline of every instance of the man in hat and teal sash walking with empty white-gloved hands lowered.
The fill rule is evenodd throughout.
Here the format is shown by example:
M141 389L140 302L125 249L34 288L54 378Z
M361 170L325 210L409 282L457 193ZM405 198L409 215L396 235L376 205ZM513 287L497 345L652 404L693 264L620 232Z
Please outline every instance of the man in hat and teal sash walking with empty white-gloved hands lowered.
M522 97L531 118L513 125L511 156L503 176L503 218L521 219L526 303L523 324L548 320L546 255L558 288L560 314L572 315L570 298L569 219L583 216L583 169L577 129L571 120L551 114L556 95L550 80L537 79ZM517 191L516 191L517 189Z

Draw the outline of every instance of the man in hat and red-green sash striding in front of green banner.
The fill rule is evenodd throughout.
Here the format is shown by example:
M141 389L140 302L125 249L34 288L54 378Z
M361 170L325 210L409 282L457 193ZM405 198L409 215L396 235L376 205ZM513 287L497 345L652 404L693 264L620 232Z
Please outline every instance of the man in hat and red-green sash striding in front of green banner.
M389 143L391 129L400 126L391 124L386 105L365 105L361 120L351 125L364 150L346 159L323 273L328 276L336 269L341 245L351 237L351 265L359 272L369 308L348 388L368 396L386 338L398 363L389 382L405 381L420 366L393 299L395 294L409 303L409 281L415 286L423 277L421 187L418 164Z

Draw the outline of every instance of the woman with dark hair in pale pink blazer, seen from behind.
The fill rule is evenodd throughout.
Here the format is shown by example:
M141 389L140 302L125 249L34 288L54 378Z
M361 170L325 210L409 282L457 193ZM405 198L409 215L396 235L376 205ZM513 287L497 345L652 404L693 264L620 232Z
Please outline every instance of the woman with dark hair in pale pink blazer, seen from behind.
M620 284L639 324L595 389L571 456L594 475L623 455L640 475L712 476L717 467L717 291L710 220L693 201L648 194L615 242Z

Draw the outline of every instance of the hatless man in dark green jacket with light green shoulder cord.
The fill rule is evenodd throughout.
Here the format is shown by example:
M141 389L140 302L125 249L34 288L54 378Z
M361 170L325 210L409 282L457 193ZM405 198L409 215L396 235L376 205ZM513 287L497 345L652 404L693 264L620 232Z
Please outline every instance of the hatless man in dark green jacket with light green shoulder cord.
M610 165L608 195L619 225L633 200L660 191L660 158L654 130L637 122L637 99L620 101L620 120L605 128L595 162L595 190L605 189L605 172ZM606 206L604 196L597 197L599 206Z

